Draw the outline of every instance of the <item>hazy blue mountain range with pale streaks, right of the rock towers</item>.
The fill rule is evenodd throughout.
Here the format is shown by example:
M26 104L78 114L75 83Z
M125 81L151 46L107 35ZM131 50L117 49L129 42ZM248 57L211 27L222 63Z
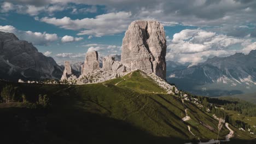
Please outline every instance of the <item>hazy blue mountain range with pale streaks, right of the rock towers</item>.
M168 81L201 95L230 95L255 92L256 50L213 57L204 63L170 73Z

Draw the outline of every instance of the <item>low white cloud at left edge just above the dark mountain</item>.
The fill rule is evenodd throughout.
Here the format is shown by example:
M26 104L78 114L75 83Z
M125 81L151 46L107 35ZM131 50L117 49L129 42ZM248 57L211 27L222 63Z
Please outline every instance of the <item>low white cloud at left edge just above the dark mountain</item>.
M49 34L46 32L19 31L13 26L0 26L0 31L14 33L19 39L27 40L34 45L48 45L58 39L57 34Z

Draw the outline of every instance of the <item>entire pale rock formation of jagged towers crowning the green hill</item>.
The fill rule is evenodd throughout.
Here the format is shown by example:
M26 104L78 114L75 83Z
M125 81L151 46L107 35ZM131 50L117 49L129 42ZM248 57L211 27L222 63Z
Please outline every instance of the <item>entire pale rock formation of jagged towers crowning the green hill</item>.
M74 81L72 74L66 73L65 67L62 80L68 80L69 83L102 82L124 76L137 69L146 74L155 74L165 80L165 55L164 27L157 21L134 21L123 39L121 61L117 56L103 57L102 68L100 68L97 51L87 52L85 62L81 65L82 75Z

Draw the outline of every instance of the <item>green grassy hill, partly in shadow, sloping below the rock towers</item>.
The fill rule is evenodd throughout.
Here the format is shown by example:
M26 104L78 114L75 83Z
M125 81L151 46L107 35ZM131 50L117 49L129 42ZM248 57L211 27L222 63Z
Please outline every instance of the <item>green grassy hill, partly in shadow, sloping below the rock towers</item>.
M0 103L4 143L187 143L217 139L218 121L190 101L166 94L141 71L90 85L39 85L0 81L16 87L16 101ZM38 95L50 107L37 106ZM183 122L187 109L190 120ZM191 132L188 130L190 127ZM232 127L232 143L255 137ZM220 139L229 130L223 127ZM235 140L236 139L236 140Z

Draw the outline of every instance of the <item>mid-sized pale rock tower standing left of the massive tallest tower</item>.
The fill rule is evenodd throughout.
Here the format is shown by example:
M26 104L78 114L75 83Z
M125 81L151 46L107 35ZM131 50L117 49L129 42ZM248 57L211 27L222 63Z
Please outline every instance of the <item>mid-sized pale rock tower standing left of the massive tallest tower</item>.
M98 62L98 52L87 52L84 62L84 74L94 73L98 69L100 69L100 63Z

